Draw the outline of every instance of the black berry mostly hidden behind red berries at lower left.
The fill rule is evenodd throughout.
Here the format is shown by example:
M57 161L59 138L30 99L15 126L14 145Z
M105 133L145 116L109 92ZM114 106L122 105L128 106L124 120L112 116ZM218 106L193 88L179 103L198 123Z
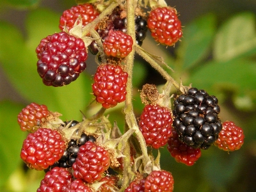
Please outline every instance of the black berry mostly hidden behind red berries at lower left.
M65 122L66 125L69 123L70 121ZM73 120L68 128L74 127L77 124L79 124L79 122L76 120ZM61 156L60 160L56 161L54 164L52 164L52 166L49 166L47 169L45 169L44 170L45 173L56 166L62 167L62 168L72 167L72 164L75 163L76 161L76 157L79 152L79 147L84 145L87 141L95 142L96 138L92 135L87 135L83 132L78 140L70 140L68 142L68 147L66 148L63 156Z

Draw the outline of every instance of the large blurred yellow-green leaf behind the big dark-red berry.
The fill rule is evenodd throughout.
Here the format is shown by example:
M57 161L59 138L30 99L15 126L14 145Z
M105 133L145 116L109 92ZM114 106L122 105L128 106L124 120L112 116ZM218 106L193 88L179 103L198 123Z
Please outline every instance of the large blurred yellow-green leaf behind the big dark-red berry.
M81 74L67 86L45 86L36 72L36 46L42 38L58 31L59 16L49 10L36 10L28 16L28 41L20 31L0 23L0 61L4 72L18 92L29 102L45 104L65 119L81 118L80 109L92 100L91 77ZM51 20L51 22L49 22Z

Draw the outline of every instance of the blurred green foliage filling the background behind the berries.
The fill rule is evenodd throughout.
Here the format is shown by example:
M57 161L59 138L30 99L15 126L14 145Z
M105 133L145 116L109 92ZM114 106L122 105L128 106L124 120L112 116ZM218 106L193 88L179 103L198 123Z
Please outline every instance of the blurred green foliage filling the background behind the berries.
M5 0L4 3L31 8L38 1ZM51 111L63 114L63 120L81 120L79 110L92 115L99 107L93 104L87 108L93 101L92 77L83 73L74 83L53 88L44 86L36 72L35 48L42 38L59 31L59 17L60 13L50 10L31 10L26 18L26 38L17 27L0 21L0 67L28 103L45 104ZM233 120L243 127L246 138L244 146L237 152L228 154L216 147L202 151L202 157L193 166L176 163L166 148L161 148L161 168L173 173L177 192L256 190L255 182L250 180L250 174L256 171L255 167L251 168L256 158L255 13L237 13L221 22L221 26L219 23L216 15L207 13L186 24L182 42L173 49L174 56L168 51L164 53L165 57L168 55L166 63L175 72L166 70L177 81L181 77L183 84L192 83L216 95L222 109L221 119ZM150 38L149 34L147 38ZM138 89L148 77L148 67L144 64L141 61L134 63L134 109L137 115L143 108ZM26 134L19 130L17 115L25 106L10 100L0 102L0 191L36 191L44 177L43 172L25 170L19 159ZM118 106L106 113L110 114L111 122L116 121L122 128L123 104Z

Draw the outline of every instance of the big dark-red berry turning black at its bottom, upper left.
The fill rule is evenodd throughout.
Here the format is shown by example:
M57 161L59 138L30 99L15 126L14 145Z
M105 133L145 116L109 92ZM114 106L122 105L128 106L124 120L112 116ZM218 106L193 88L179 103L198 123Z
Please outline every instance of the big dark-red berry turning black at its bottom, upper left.
M87 50L83 40L65 32L43 38L36 54L37 72L47 86L70 84L86 68Z

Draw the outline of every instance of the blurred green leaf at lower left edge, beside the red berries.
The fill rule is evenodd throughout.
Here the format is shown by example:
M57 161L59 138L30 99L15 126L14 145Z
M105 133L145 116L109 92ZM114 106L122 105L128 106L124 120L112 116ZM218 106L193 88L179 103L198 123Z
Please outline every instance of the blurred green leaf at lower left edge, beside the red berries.
M17 124L22 106L12 102L0 102L0 186L21 163L20 149L26 137ZM19 147L18 147L19 146Z

